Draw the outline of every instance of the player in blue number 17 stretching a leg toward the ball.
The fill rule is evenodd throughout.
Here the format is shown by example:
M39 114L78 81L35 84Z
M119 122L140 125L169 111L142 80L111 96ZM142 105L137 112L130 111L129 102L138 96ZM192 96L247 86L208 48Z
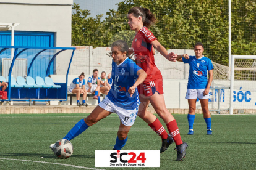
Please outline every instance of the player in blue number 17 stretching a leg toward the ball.
M117 132L115 150L121 150L126 144L127 134L137 117L139 95L137 86L147 77L147 73L137 66L128 56L128 45L117 40L111 47L113 84L105 99L85 119L81 119L63 139L72 140L88 127L111 113L117 113L120 126ZM54 150L55 145L50 148Z

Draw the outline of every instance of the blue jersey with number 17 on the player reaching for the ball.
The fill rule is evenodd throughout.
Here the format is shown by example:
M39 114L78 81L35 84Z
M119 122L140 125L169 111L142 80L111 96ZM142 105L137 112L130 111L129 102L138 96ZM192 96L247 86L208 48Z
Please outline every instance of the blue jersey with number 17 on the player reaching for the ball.
M113 83L107 95L111 102L127 110L134 110L139 106L140 100L137 88L132 97L130 97L128 89L134 85L138 78L137 71L140 69L142 68L128 57L119 65L112 61L111 77Z

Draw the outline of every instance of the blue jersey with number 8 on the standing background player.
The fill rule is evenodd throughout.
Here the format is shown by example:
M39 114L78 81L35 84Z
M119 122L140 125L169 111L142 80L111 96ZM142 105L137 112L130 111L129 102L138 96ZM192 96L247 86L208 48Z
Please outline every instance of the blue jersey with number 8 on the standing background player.
M187 89L205 89L208 84L207 70L213 70L213 63L207 57L197 59L189 56L189 59L182 58L184 63L189 64L189 82Z

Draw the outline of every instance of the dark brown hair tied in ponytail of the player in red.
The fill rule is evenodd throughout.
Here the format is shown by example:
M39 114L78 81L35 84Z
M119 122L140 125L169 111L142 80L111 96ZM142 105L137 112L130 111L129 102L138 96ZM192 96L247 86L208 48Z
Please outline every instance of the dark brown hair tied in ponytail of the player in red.
M134 17L142 17L143 26L150 28L151 25L156 23L155 16L150 12L149 9L143 7L132 7L128 14L133 14Z

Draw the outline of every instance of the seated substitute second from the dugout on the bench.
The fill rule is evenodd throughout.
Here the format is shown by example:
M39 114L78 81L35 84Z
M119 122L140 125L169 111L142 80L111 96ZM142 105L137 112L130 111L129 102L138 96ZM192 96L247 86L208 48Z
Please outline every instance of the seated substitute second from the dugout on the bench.
M98 99L100 103L100 78L98 77L98 69L93 70L93 75L88 78L87 92L94 93L93 99Z

